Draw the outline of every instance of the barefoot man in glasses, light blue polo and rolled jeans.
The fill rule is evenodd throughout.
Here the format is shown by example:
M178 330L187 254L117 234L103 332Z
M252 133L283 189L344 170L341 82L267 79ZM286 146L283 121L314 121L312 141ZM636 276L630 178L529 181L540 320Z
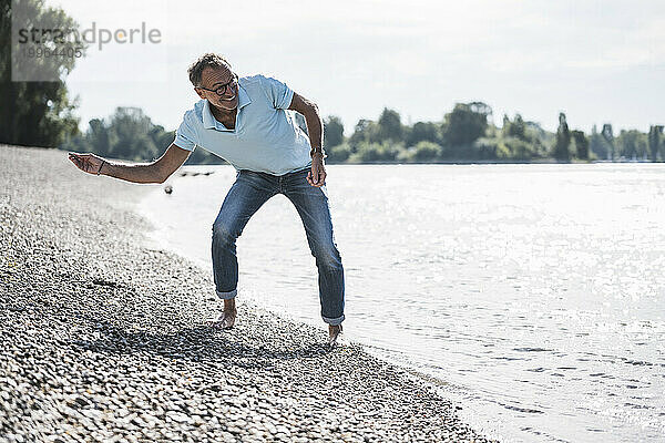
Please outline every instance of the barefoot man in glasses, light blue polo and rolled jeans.
M214 280L224 310L211 326L222 329L232 328L237 315L236 239L268 198L284 194L303 220L318 268L328 342L337 344L345 319L344 267L332 235L318 107L275 79L238 78L218 54L204 54L188 73L202 100L185 113L175 141L160 158L147 164L121 164L94 154L70 153L70 159L90 174L164 183L195 146L201 146L236 168L236 181L222 204L212 235ZM309 137L286 110L305 116Z

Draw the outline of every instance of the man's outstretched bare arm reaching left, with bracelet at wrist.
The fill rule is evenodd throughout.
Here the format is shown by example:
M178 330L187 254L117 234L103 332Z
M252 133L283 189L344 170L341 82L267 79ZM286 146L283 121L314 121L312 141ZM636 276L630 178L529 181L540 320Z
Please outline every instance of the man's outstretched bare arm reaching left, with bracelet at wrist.
M70 153L70 159L81 171L108 175L132 183L164 183L178 167L185 163L192 151L171 144L166 152L151 163L115 163L94 154Z

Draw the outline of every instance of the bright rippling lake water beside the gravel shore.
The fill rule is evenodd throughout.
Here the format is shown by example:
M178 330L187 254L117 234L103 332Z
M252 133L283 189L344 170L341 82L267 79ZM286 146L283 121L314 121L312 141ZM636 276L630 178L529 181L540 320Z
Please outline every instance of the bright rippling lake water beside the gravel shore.
M331 165L349 338L436 378L514 442L665 440L665 165ZM212 275L235 172L143 212ZM239 297L321 326L316 268L276 196L238 239ZM213 288L211 288L213 292Z

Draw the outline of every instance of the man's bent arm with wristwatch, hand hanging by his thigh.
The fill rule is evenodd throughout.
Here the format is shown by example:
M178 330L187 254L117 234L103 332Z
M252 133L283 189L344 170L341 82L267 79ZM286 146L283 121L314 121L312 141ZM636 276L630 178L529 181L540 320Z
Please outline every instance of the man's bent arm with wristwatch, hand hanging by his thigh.
M324 123L318 112L316 103L305 99L294 92L289 110L299 112L305 116L307 132L309 133L309 143L311 151L311 171L307 174L307 182L311 186L321 187L326 183L326 168L324 166Z

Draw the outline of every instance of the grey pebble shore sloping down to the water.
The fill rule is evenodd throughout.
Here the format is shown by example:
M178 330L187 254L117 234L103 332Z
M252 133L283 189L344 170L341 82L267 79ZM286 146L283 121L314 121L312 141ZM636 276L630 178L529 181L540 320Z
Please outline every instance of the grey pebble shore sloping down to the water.
M485 442L424 381L150 247L155 185L0 146L0 441Z

